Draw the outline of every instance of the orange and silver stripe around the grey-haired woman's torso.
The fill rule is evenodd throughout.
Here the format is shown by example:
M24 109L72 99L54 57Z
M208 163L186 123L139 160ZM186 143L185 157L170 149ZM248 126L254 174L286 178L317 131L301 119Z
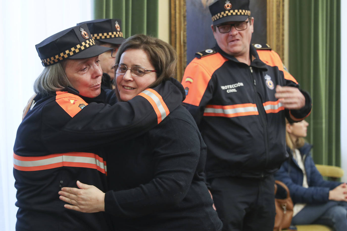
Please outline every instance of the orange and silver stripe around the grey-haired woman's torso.
M94 153L67 152L40 157L22 157L13 153L13 166L20 171L39 171L59 167L96 169L107 174L106 161Z

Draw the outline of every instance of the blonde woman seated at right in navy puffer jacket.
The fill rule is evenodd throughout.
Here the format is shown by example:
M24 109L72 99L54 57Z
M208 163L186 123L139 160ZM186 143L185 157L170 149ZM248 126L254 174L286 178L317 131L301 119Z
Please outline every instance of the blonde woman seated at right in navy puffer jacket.
M288 161L275 174L285 183L294 202L293 225L324 224L336 231L347 230L347 187L345 183L323 180L304 139L308 123L286 124Z

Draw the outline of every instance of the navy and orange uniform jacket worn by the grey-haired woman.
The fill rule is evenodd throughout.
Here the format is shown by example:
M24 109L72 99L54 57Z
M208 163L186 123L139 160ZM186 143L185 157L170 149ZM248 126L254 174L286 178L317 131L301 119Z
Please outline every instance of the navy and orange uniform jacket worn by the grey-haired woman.
M73 88L37 95L14 145L16 229L108 230L103 213L67 210L58 191L80 180L105 192L107 164L97 146L153 128L181 103L182 92L172 79L113 106L96 103L114 103L110 91L101 99L81 97Z

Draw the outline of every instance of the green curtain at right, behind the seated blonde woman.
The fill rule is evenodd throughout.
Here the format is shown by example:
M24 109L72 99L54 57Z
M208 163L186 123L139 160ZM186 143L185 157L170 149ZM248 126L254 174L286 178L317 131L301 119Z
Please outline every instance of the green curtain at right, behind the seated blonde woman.
M289 0L289 71L312 97L315 163L340 166L340 0Z

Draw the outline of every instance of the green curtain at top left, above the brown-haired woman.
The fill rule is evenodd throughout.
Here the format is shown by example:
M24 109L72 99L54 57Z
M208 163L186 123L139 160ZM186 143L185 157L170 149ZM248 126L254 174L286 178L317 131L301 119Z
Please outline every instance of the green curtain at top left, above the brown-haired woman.
M94 19L121 19L125 38L134 34L158 37L158 1L94 0Z

